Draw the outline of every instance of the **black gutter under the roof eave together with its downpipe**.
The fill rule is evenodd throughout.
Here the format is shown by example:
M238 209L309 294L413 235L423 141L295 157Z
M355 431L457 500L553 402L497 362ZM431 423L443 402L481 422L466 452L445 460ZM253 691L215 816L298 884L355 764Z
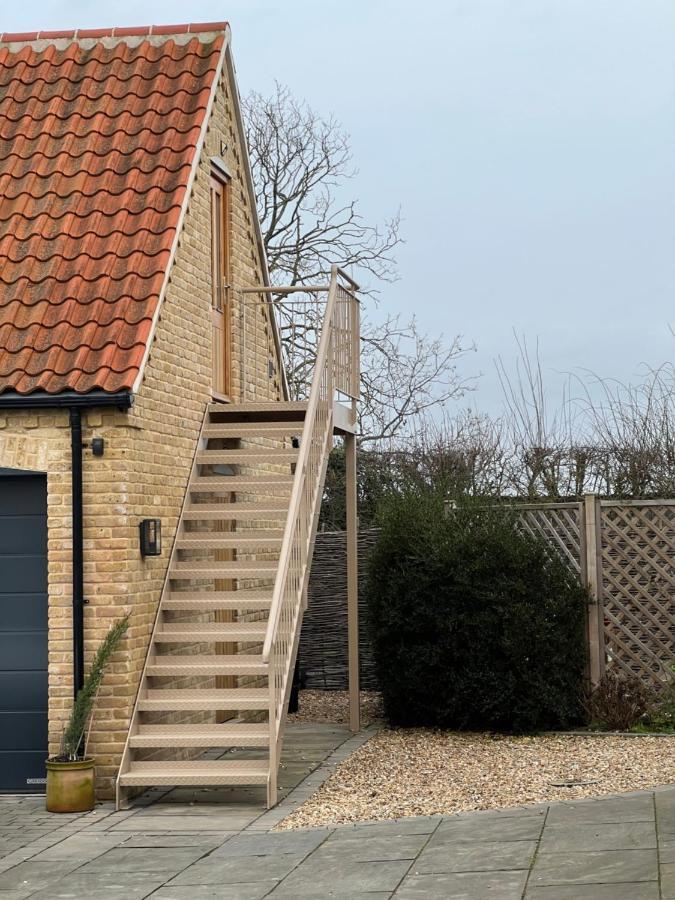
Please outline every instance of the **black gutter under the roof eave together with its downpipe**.
M90 391L78 394L64 391L48 394L35 391L32 394L15 392L0 394L0 409L68 409L70 411L70 466L71 502L73 514L73 693L84 684L84 525L82 509L82 410L94 407L116 407L130 409L133 394L119 391L115 394L105 391Z

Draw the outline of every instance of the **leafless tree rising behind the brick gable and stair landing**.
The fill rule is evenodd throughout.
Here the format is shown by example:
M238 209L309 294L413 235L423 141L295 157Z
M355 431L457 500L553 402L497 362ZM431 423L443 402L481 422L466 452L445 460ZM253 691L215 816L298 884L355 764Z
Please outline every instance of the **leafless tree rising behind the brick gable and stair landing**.
M394 253L401 243L400 214L380 225L364 220L348 195L356 174L348 135L334 118L322 118L288 88L243 101L246 132L272 281L291 286L325 280L332 264L370 283L365 294L397 277ZM373 284L374 282L374 284ZM294 399L307 396L322 321L316 295L274 301L285 367ZM362 317L361 441L391 441L432 408L470 386L457 362L459 338L444 342L420 331L415 319Z

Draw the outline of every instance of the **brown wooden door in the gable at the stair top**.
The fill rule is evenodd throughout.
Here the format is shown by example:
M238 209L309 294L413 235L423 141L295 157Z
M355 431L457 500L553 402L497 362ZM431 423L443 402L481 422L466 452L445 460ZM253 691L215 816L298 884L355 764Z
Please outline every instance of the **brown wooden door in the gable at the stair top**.
M230 308L230 183L211 176L211 340L212 388L215 394L231 391Z

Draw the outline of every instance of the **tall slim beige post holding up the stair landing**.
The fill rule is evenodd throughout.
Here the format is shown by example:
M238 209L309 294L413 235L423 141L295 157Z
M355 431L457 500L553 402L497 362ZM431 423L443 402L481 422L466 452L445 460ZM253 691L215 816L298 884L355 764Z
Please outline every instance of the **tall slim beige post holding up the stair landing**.
M349 727L361 728L359 702L359 545L356 489L356 437L345 435L347 489L347 642L349 650Z

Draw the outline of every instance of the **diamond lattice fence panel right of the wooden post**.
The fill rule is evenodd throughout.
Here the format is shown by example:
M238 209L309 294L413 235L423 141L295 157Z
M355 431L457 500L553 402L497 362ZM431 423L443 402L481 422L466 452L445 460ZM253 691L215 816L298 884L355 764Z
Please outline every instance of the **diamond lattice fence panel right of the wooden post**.
M662 682L675 660L675 502L601 506L608 664Z

